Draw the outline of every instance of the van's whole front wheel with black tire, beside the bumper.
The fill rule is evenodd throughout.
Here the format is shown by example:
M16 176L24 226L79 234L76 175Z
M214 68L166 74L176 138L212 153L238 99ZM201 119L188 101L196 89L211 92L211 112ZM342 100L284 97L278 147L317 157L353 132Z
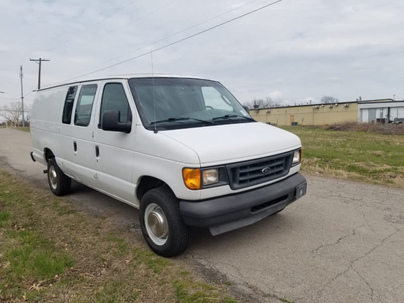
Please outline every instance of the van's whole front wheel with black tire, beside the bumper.
M164 230L161 235L154 235L153 229L156 225L149 225L149 219L156 218L156 212L164 215L167 224L158 230ZM141 198L139 211L140 226L148 246L163 257L173 257L185 250L189 241L189 229L182 220L178 199L167 186L161 186L147 191ZM161 221L159 221L161 222ZM147 225L147 227L146 227ZM156 231L156 230L155 230Z

